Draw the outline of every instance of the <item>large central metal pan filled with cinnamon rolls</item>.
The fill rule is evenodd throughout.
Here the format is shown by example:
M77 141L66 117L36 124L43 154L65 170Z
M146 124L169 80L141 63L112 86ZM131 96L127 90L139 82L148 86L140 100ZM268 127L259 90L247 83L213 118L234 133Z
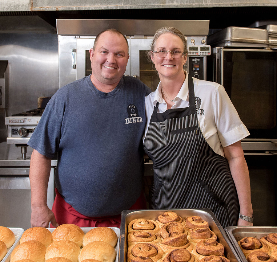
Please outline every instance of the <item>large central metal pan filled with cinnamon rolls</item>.
M213 261L240 260L211 210L122 211L119 262Z

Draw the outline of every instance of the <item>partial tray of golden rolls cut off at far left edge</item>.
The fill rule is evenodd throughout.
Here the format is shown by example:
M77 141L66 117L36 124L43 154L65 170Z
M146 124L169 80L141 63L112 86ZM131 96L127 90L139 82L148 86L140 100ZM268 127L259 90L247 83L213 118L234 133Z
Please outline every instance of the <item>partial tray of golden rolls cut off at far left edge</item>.
M21 227L0 226L0 262L6 261L11 250L18 244L24 232Z

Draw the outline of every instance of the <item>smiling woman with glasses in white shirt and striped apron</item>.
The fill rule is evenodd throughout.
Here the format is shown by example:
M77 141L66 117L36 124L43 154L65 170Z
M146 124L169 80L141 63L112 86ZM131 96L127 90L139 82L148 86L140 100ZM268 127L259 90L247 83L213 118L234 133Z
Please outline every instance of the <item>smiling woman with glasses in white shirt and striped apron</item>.
M154 163L151 208L209 208L224 227L253 225L241 139L249 135L223 86L183 70L187 41L160 28L149 58L160 83L146 98L144 149Z

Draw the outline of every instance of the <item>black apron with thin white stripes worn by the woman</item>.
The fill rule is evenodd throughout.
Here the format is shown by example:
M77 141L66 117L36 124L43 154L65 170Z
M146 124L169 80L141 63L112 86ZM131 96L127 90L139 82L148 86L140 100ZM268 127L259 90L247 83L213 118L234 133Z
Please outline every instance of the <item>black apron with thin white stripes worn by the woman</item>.
M236 225L239 201L227 159L205 140L197 120L194 84L189 107L157 113L154 107L144 150L154 163L151 208L209 208L221 225Z

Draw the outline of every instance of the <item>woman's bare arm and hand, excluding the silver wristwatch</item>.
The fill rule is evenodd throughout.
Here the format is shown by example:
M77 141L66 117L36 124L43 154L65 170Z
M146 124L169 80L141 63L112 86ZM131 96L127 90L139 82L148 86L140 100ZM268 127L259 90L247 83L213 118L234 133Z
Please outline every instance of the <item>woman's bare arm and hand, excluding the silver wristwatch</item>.
M229 163L232 178L235 182L239 197L240 213L252 217L253 209L251 204L250 179L247 163L243 155L241 142L223 148L225 157ZM253 226L253 223L239 219L238 225Z

